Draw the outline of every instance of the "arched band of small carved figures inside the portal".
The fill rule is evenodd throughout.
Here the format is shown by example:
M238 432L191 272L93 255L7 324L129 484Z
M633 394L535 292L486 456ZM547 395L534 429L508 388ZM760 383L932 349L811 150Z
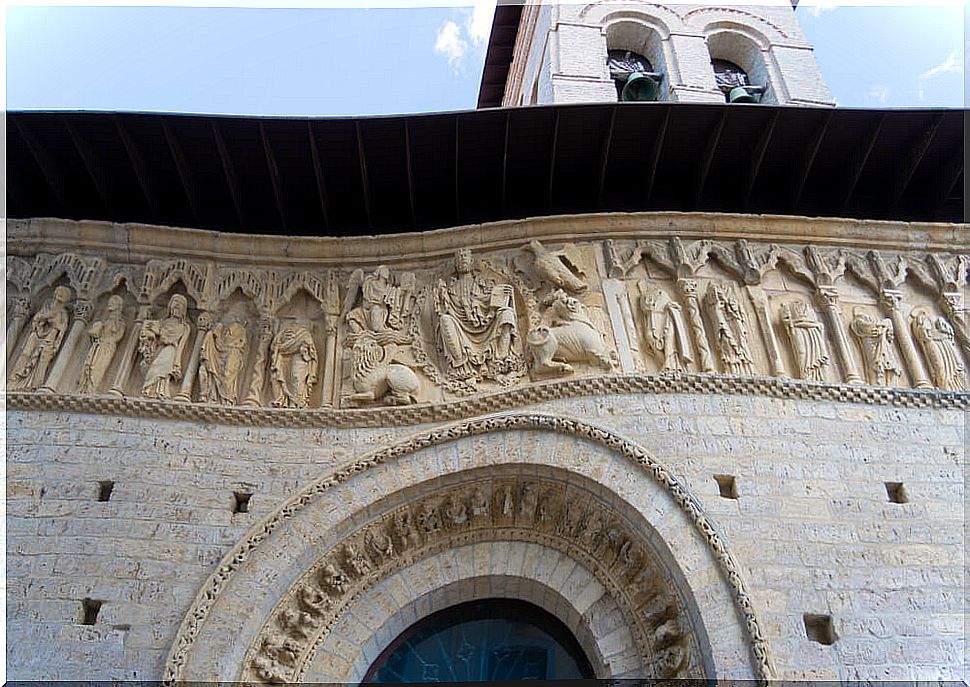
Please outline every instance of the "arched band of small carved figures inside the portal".
M480 541L534 542L580 561L623 609L645 677L705 677L684 602L635 524L585 490L499 478L419 498L334 546L277 604L240 679L305 681L317 649L368 588L415 561Z

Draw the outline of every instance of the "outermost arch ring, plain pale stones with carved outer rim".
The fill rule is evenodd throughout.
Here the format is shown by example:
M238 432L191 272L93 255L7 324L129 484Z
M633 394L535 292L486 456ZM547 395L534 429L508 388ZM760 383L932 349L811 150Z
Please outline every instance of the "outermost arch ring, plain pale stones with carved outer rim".
M697 600L696 617L714 629L711 656L720 676L770 677L767 643L740 567L696 497L613 432L568 418L510 414L417 434L336 470L283 504L203 584L176 635L165 680L236 679L247 647L280 600L319 562L321 551L361 530L376 504L442 476L498 465L564 470L634 509L676 550L673 565ZM287 610L296 616L292 622L302 613Z

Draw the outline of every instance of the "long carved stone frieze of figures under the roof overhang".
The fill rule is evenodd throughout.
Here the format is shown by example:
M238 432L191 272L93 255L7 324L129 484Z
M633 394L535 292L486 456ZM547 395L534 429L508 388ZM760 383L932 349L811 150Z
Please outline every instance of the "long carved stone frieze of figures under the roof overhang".
M555 243L360 267L11 256L11 391L312 410L614 373L966 391L965 255Z

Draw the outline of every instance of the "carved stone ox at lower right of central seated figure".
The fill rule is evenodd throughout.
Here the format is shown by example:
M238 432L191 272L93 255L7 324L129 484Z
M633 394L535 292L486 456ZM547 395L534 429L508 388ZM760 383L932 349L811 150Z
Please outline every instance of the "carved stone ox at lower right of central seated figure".
M561 289L546 299L546 305L549 324L539 325L526 337L535 374L569 374L569 363L578 362L605 370L616 366L616 352L607 347L585 305Z

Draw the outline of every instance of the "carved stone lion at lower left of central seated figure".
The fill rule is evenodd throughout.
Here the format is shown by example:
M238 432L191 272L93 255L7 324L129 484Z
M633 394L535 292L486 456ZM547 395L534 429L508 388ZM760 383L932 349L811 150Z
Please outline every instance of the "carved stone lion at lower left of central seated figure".
M391 335L391 333L386 333ZM348 350L352 394L344 396L348 405L359 406L378 401L388 405L417 403L421 381L407 365L394 362L397 346L382 341L382 334L363 331L353 337Z

